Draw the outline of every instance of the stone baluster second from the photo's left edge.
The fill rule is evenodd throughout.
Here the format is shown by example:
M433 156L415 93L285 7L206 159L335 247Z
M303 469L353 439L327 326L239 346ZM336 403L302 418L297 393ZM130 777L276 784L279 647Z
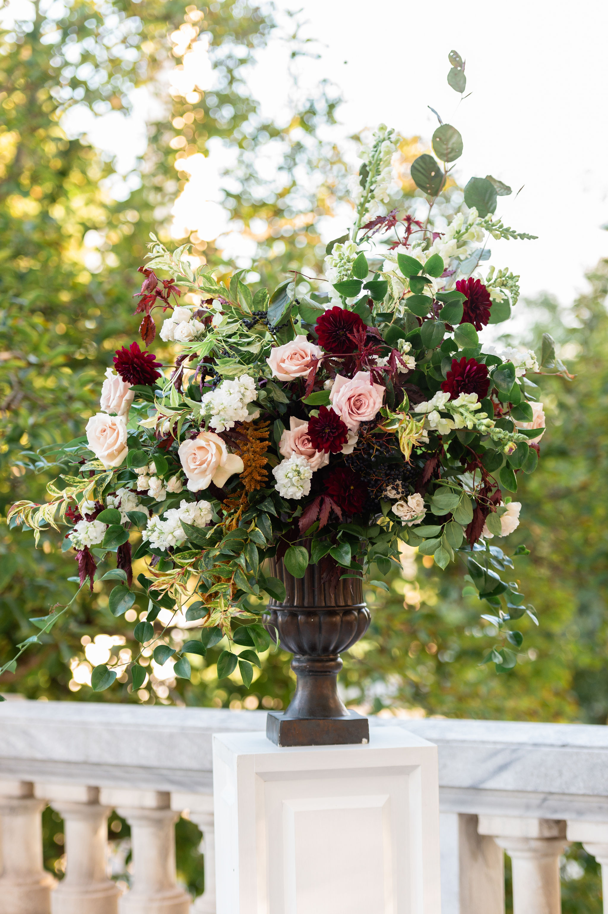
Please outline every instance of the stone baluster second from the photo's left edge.
M66 875L51 897L53 914L118 914L121 894L108 878L108 816L97 787L37 784L37 796L63 819Z

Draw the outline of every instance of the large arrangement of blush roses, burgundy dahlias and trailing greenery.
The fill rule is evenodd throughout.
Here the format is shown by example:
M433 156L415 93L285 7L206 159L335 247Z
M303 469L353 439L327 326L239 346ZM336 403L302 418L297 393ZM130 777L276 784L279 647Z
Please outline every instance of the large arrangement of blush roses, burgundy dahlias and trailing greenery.
M462 91L456 52L450 63L448 81ZM188 677L187 655L227 636L218 675L238 664L251 683L269 644L264 594L285 596L267 575L272 557L297 578L312 563L334 581L388 574L402 544L441 569L462 560L463 592L478 595L498 632L484 662L499 672L516 664L522 642L511 623L524 613L536 622L500 576L513 563L496 540L518 526L518 477L539 462L545 417L531 376L567 373L548 335L540 356L479 339L519 296L518 276L487 269L488 239L532 236L495 215L510 188L491 175L472 177L464 195L452 182L448 194L463 143L442 122L434 154L411 165L415 208L387 211L398 143L381 126L362 154L354 226L327 248L329 298L322 287L300 292L298 275L271 294L251 289L246 271L217 282L207 267L193 270L187 245L171 253L152 236L136 313L149 346L161 309L174 363L136 342L118 350L85 435L53 452L61 472L47 504L9 513L37 538L69 527L64 548L81 587L92 589L115 555L101 577L117 581L110 611L121 615L145 593L134 638L158 663L173 658L174 675ZM131 563L142 558L140 590ZM162 609L200 621L181 652L156 622ZM47 632L66 610L32 622ZM94 669L93 688L121 672L115 659ZM134 690L146 675L138 659Z

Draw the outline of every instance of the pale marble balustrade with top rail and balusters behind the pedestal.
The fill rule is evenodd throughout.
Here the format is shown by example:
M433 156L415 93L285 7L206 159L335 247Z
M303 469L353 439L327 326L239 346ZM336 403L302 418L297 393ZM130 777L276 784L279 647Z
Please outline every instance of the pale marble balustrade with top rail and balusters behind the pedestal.
M573 841L602 865L608 898L608 728L371 723L371 743L386 723L439 747L443 914L504 914L504 853L514 914L559 914L560 857ZM212 734L265 728L261 711L2 704L0 914L215 914ZM43 867L47 805L64 821L60 880ZM126 889L108 872L113 810L131 826ZM181 814L204 836L194 903L176 878Z

